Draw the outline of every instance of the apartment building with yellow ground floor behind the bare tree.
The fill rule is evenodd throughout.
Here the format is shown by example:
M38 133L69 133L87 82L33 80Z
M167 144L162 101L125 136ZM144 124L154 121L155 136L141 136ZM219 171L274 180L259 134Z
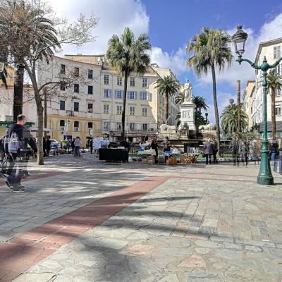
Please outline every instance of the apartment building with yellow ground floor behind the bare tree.
M56 85L47 92L47 128L56 140L79 136L82 146L90 137L100 136L100 78L99 65L73 61L57 56L49 64L39 65L39 85L47 82L72 81Z

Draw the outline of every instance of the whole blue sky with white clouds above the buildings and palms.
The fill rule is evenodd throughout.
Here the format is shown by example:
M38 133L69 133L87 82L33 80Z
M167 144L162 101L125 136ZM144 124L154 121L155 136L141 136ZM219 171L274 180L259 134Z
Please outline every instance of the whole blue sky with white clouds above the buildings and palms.
M238 24L249 37L244 57L255 59L259 42L282 37L281 0L47 0L58 16L69 23L80 13L99 18L93 30L96 41L79 49L63 46L63 54L104 54L112 35L121 35L125 26L135 35L147 33L152 44L152 63L171 68L180 82L190 79L193 95L207 99L209 121L214 122L212 78L197 77L186 66L185 46L200 33L202 27L221 28L233 35ZM233 55L235 52L233 50ZM216 73L219 113L233 98L236 101L236 81L241 80L241 93L247 80L255 79L249 64L241 66L233 60L230 68Z

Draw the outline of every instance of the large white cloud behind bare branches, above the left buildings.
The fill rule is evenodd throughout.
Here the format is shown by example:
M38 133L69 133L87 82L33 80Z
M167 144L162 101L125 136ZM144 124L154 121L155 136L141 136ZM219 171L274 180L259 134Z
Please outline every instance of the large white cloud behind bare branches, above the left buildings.
M70 3L72 2L72 3ZM90 16L94 13L99 18L99 25L93 30L96 42L85 44L76 49L64 46L63 53L104 54L109 38L121 35L124 27L130 27L135 35L149 32L149 16L140 0L49 0L58 16L67 18L71 23L80 13Z

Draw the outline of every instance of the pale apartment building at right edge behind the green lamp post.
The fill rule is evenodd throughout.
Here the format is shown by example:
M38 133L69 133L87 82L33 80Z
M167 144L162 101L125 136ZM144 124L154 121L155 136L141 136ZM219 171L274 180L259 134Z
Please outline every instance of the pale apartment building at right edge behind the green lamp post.
M275 63L277 59L282 56L282 38L273 39L268 42L262 42L259 44L255 63L260 65L266 56L266 60L269 64ZM279 63L275 68L276 73L282 75L282 63ZM276 91L276 122L282 121L282 92ZM262 108L262 71L255 71L255 90L253 90L252 97L248 103L250 108L250 121L252 127L258 128L263 121L263 108ZM249 110L247 110L249 112ZM267 94L267 121L271 121L271 96ZM262 126L260 126L262 129Z

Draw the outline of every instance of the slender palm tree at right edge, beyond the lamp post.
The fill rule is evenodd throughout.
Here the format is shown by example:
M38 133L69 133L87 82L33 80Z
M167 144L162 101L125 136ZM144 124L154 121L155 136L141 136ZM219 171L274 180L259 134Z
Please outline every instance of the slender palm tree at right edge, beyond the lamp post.
M278 75L274 70L269 71L267 75L267 89L271 94L271 125L272 125L272 136L276 136L276 116L275 116L275 95L276 91L282 89L282 77Z

